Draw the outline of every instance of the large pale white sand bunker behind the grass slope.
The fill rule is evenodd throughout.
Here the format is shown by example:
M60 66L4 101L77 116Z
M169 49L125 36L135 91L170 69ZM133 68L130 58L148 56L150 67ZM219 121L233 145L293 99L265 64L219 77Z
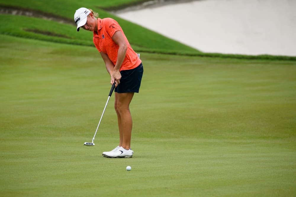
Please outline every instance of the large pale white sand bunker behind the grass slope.
M296 0L158 4L115 15L203 52L296 56Z

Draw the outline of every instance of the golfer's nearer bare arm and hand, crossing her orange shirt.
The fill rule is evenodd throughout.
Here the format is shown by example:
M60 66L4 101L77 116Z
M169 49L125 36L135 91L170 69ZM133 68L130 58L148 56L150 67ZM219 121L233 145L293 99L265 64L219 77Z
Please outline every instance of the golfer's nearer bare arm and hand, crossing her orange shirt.
M126 56L127 51L127 44L126 40L123 37L123 34L121 31L116 31L114 35L112 36L112 39L114 42L119 46L118 48L118 54L117 54L117 61L113 69L113 78L116 81L116 84L118 85L120 83L121 74L119 72L119 69L124 61L124 58Z

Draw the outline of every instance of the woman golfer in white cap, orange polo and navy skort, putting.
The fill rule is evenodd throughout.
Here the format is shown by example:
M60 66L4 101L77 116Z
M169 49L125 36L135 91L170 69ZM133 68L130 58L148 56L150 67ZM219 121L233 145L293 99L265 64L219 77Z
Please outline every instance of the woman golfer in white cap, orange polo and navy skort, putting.
M74 14L74 20L79 28L94 32L94 45L100 52L111 84L115 82L115 111L118 119L119 146L109 152L103 152L104 157L133 157L131 150L131 131L133 121L129 104L135 92L139 93L143 75L143 65L136 52L133 51L118 22L111 18L98 18L91 9L79 8Z

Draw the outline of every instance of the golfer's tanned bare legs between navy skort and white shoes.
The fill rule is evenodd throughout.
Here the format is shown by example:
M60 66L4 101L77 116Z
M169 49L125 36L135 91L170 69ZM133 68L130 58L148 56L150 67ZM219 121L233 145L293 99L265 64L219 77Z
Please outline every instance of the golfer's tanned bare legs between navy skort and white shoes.
M124 149L131 148L131 131L133 120L129 105L133 99L133 92L117 93L115 92L115 111L117 113L119 128L119 146Z

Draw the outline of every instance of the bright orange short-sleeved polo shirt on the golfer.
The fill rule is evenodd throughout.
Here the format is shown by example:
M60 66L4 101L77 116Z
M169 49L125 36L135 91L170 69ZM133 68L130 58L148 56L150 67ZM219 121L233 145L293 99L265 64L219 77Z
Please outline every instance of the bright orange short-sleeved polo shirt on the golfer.
M98 32L94 31L94 45L98 49L99 52L106 53L113 64L116 64L117 54L119 46L114 42L112 36L116 31L121 31L124 39L126 40L126 44L128 49L126 51L126 57L120 67L120 71L122 70L130 70L134 69L141 64L141 60L138 57L138 54L133 51L131 45L128 43L128 39L123 33L120 25L117 21L112 18L98 18Z

